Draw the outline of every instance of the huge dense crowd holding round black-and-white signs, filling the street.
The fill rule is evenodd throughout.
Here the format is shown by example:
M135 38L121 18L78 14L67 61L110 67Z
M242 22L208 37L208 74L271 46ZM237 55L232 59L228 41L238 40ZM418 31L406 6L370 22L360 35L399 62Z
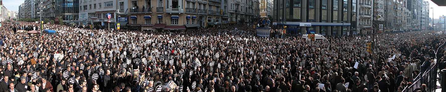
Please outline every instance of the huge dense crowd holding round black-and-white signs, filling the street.
M310 44L257 37L241 24L187 32L44 24L55 35L2 24L0 92L401 92L446 57L446 36L428 32L379 35L371 54L369 35Z

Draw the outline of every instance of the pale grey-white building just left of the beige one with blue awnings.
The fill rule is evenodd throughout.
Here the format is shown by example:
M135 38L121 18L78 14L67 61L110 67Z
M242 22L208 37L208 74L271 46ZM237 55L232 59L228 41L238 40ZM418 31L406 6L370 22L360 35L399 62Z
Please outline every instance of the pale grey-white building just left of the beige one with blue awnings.
M116 24L116 21L118 21L118 15L116 14L119 14L119 11L116 10L124 11L124 9L119 8L117 1L118 0L81 0L79 2L78 24L97 24L115 28L114 25ZM124 3L127 0L119 1L121 1L119 3ZM110 19L108 19L107 14L110 14Z

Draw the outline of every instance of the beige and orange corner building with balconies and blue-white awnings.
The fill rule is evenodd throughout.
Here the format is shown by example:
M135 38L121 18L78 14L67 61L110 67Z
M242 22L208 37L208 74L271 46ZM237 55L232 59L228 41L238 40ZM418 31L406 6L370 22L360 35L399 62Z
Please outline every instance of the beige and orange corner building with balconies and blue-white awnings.
M243 0L128 0L120 2L121 28L132 30L189 30L199 27L250 22L260 16L260 1ZM235 12L235 3L244 12ZM230 6L232 5L232 7ZM242 7L243 6L243 7ZM231 10L232 8L232 10ZM244 18L242 18L244 17Z

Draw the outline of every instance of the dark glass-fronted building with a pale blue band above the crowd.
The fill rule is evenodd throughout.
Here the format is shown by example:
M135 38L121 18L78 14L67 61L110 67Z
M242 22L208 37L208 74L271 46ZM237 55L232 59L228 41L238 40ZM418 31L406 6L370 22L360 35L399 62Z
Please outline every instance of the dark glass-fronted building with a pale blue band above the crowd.
M273 27L299 36L356 34L357 0L274 0Z

